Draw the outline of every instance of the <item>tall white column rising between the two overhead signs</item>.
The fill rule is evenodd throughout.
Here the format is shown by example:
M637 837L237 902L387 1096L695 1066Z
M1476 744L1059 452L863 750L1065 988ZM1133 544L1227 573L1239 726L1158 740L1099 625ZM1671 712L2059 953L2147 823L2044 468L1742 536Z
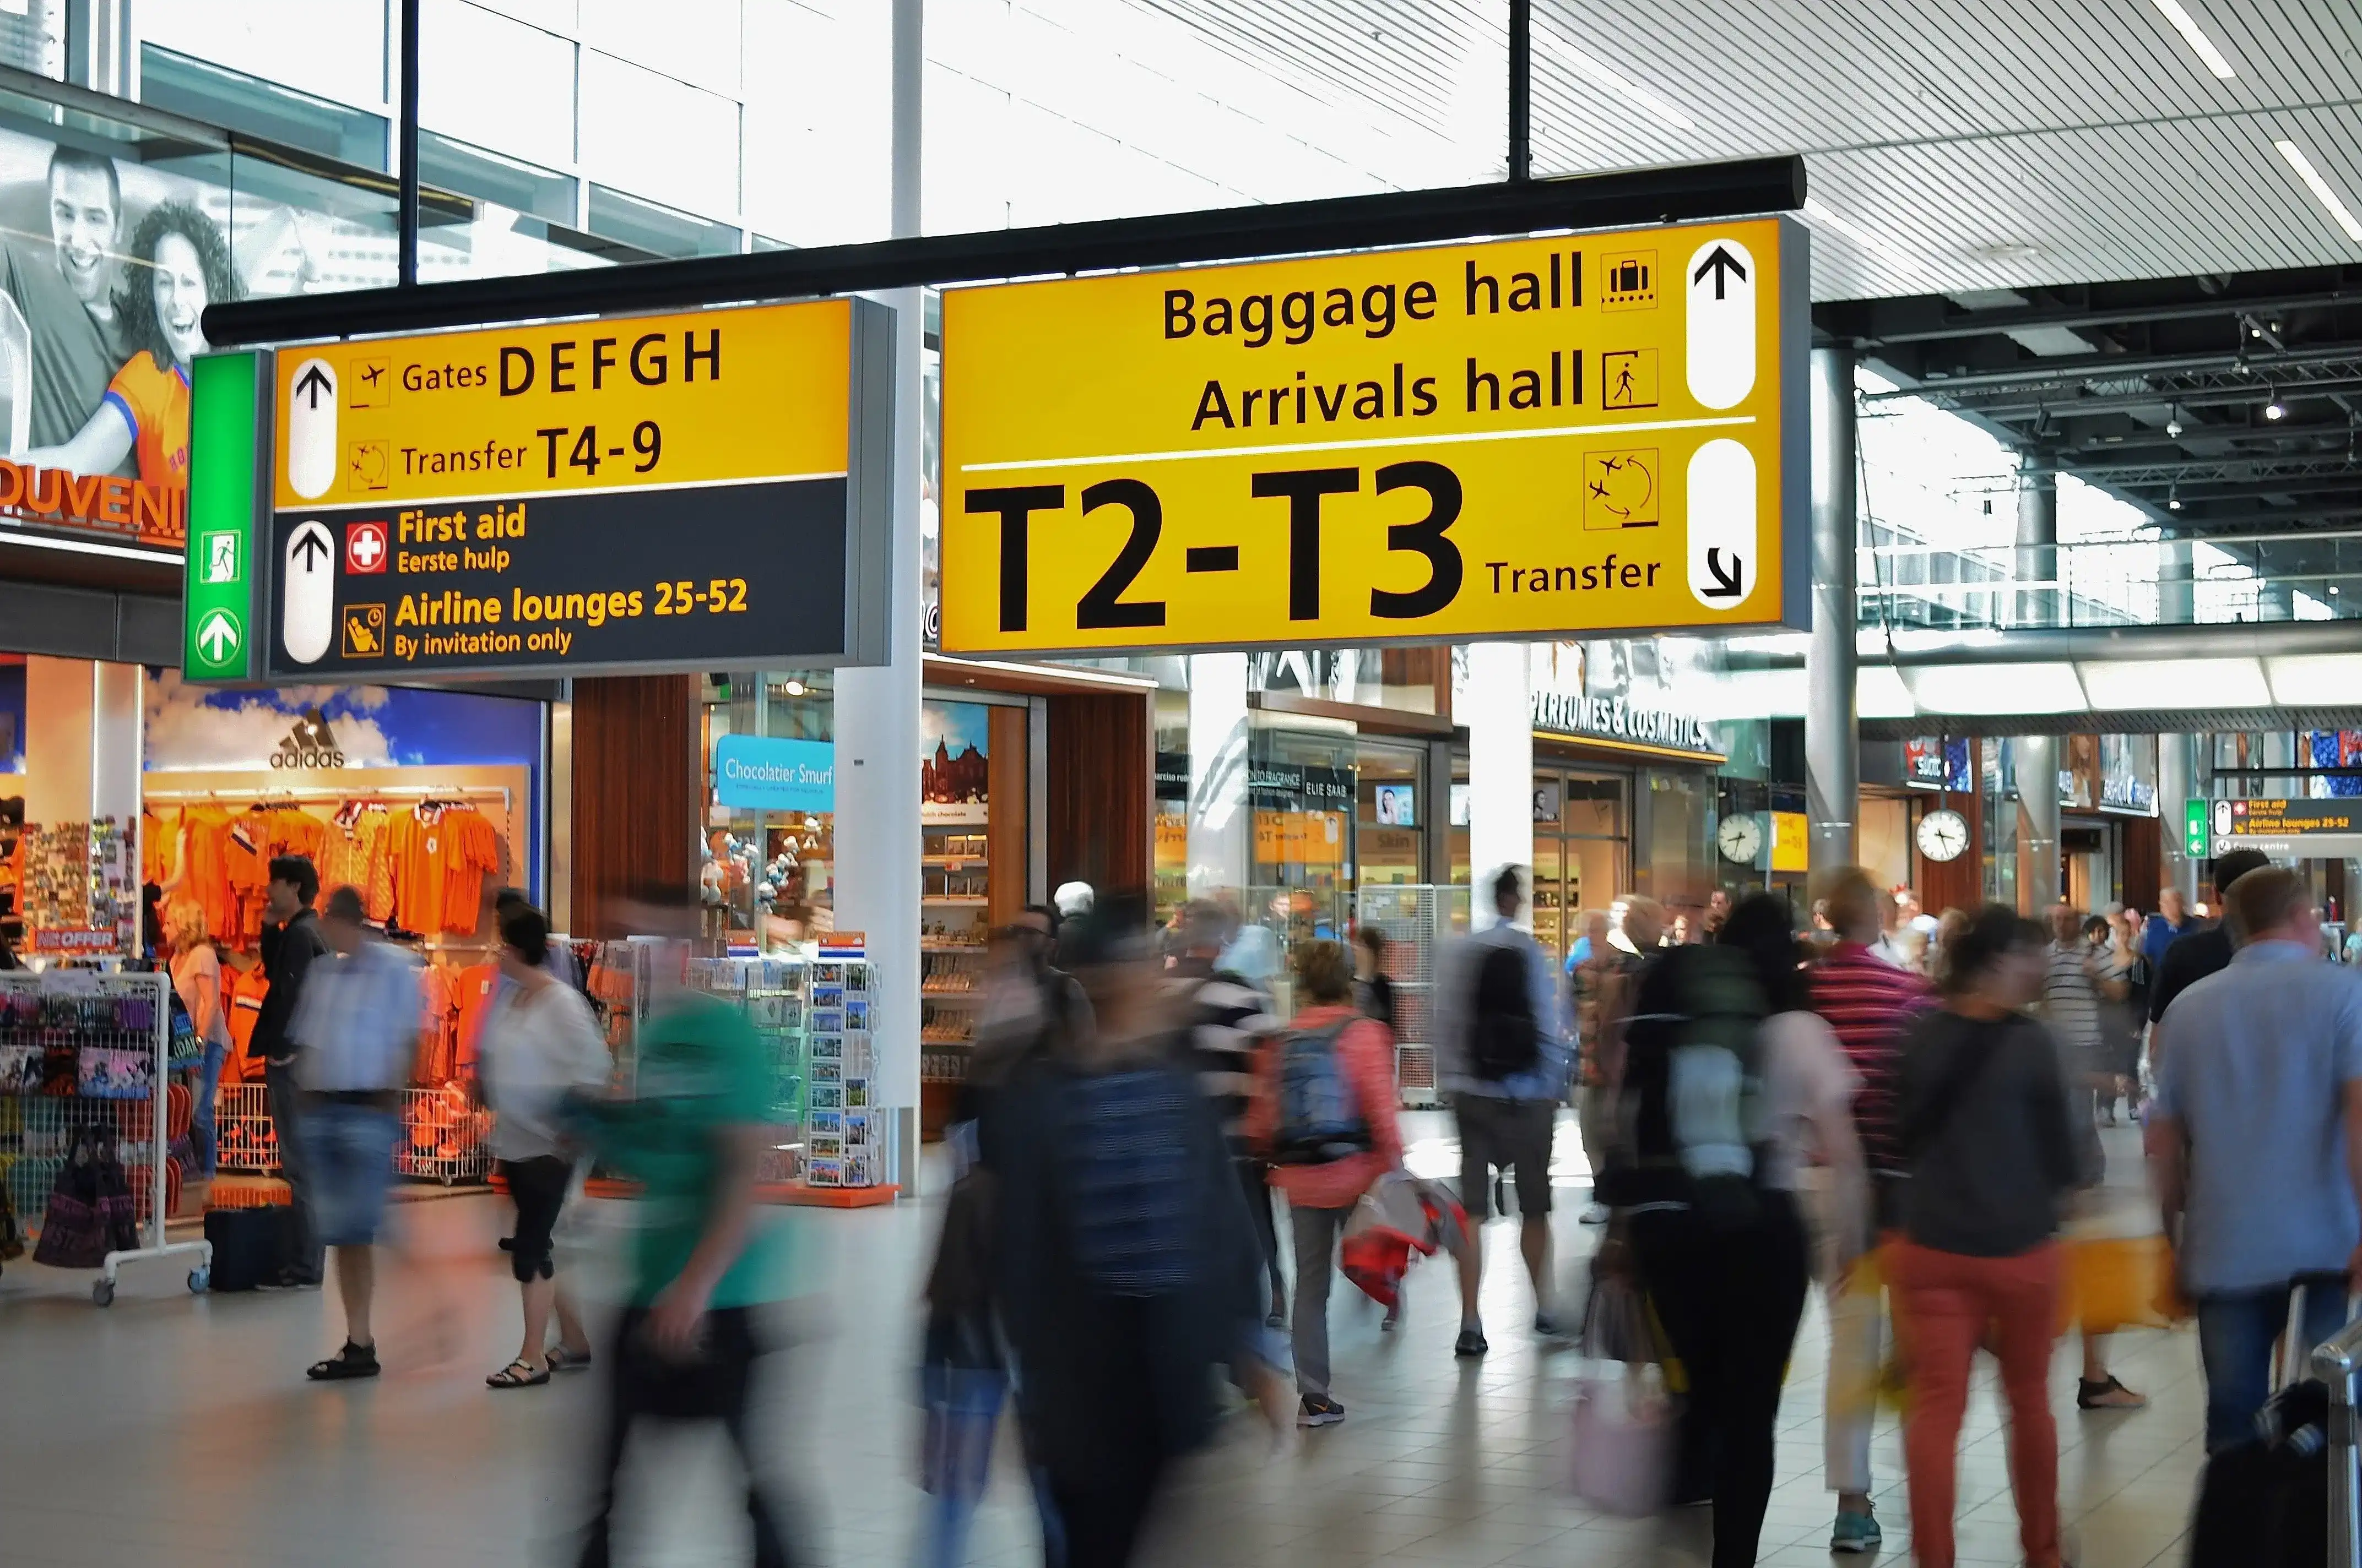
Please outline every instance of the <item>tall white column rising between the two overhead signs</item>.
M924 0L893 7L893 231L919 234ZM836 673L836 926L869 940L879 1030L876 1096L893 1126L893 1181L919 1195L919 579L921 345L916 288L895 309L890 661ZM1009 867L1016 874L1016 867Z

